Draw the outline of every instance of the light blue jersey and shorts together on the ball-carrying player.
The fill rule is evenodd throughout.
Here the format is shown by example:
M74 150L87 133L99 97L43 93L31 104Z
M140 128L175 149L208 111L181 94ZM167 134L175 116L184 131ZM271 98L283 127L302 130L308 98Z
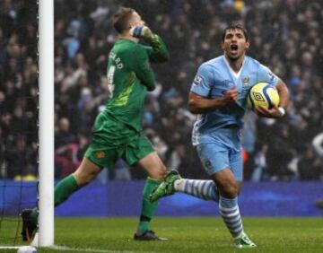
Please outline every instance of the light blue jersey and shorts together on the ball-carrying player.
M231 69L224 56L198 68L191 92L216 99L233 87L238 90L238 100L234 104L198 115L194 125L193 145L209 175L230 168L235 179L242 180L240 129L249 89L260 82L275 86L278 81L279 78L265 65L251 57L244 57L239 73Z

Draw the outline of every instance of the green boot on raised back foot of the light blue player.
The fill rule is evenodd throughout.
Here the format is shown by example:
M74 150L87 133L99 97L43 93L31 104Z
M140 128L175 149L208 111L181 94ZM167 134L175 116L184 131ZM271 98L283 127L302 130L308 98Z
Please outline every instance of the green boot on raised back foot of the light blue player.
M170 170L164 181L156 188L153 189L153 193L149 197L151 202L160 199L162 196L170 196L175 193L174 182L181 179L177 170Z

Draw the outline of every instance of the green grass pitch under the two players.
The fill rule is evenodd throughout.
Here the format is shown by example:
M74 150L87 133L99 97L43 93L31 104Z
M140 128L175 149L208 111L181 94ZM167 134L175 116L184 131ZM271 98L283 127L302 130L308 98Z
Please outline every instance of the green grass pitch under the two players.
M235 249L219 217L156 217L153 230L169 241L134 241L136 218L57 218L55 242L68 248L38 252L323 252L322 218L244 218L243 222L257 249Z

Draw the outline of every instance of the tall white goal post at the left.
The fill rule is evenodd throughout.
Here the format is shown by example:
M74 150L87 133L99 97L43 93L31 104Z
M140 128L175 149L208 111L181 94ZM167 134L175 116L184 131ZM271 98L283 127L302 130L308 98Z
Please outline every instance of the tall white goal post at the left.
M54 0L39 0L39 236L54 245Z

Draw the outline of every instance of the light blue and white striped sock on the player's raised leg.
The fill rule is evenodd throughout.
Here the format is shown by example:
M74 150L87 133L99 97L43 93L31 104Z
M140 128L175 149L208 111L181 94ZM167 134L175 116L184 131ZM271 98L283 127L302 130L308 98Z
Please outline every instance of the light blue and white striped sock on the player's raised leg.
M212 180L178 179L175 181L174 187L177 192L219 202L219 193Z

